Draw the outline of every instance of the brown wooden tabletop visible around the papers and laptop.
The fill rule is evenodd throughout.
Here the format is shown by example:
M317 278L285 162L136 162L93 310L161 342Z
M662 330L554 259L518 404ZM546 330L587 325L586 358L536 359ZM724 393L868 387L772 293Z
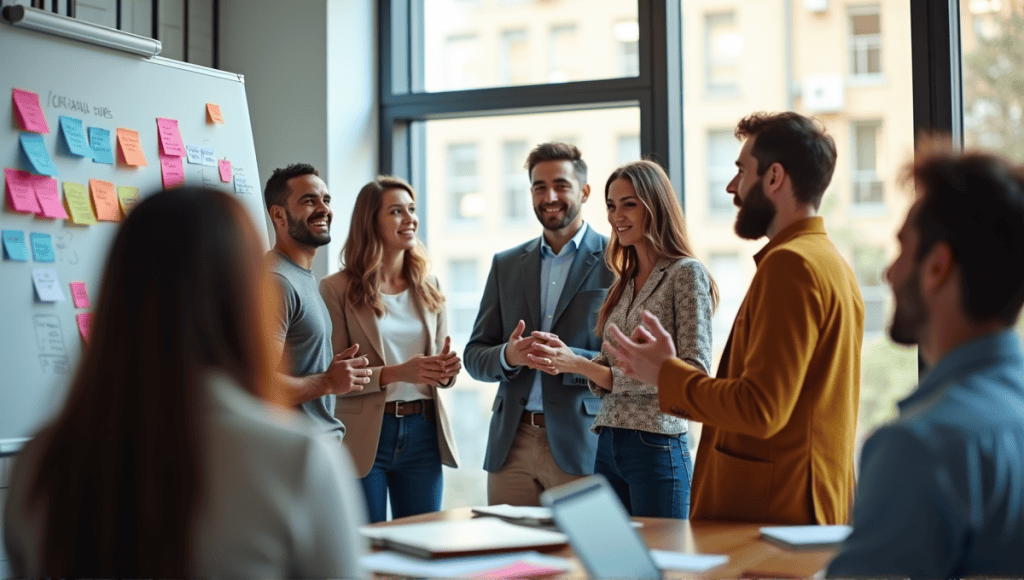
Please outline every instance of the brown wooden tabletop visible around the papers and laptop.
M467 520L473 516L468 507L459 507L423 515L382 522L374 526ZM729 562L705 574L686 574L667 571L670 578L804 578L823 569L835 554L834 549L793 551L766 542L758 531L762 524L736 522L693 522L665 517L634 517L643 526L639 529L647 545L654 549L684 553L726 554ZM583 566L575 561L568 546L548 552L572 558L574 569L561 578L586 576Z

